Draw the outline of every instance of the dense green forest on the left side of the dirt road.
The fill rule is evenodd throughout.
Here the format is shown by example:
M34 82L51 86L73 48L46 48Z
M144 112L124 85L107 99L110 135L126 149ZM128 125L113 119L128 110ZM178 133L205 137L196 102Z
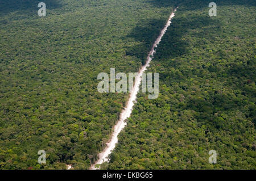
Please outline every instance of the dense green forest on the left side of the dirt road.
M138 71L172 7L48 0L39 17L39 2L0 1L0 168L88 169L127 99L99 93L98 73Z

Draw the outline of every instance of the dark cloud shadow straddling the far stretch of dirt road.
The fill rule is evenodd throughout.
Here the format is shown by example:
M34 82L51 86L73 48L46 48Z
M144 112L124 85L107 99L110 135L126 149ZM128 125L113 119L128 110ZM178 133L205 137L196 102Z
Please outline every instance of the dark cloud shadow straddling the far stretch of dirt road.
M138 23L138 25L127 35L126 38L133 38L138 41L137 45L126 47L126 54L136 56L142 63L146 62L147 54L150 51L156 37L159 36L160 30L164 27L165 20L148 19L147 22ZM221 28L221 22L218 19L210 19L207 15L195 15L190 18L174 18L172 24L164 34L162 41L156 50L155 58L175 58L187 52L188 43L183 36L188 31L195 28L204 28L209 25L212 31L218 31ZM203 37L206 29L196 36ZM147 52L145 52L147 50Z

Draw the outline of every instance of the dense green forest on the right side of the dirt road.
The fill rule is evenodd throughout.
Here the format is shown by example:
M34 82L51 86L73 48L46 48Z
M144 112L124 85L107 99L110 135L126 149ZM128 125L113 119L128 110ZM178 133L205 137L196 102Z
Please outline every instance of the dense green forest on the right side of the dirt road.
M255 1L205 2L176 11L148 69L159 98L139 94L102 169L256 168Z

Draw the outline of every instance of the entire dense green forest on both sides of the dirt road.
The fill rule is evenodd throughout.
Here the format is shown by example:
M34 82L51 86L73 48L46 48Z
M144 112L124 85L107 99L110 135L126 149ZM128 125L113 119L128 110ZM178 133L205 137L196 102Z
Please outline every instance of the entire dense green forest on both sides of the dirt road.
M148 69L159 97L138 95L101 169L256 168L254 1L39 2L0 0L0 169L88 169L128 97L98 73L138 71L177 6Z

